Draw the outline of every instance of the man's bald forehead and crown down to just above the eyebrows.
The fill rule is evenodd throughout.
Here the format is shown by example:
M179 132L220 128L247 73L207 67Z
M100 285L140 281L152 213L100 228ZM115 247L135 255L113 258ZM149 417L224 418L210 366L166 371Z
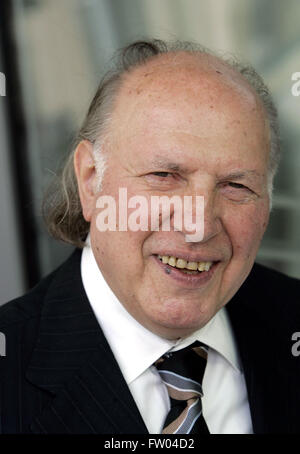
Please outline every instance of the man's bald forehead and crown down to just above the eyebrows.
M254 89L207 54L167 54L126 74L110 124L112 140L123 144L188 146L195 139L207 150L218 139L228 150L233 142L243 150L265 148L269 132Z

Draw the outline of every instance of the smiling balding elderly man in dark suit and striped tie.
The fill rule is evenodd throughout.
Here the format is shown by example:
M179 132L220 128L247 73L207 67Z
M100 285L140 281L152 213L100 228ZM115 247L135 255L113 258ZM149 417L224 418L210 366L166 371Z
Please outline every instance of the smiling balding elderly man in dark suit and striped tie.
M3 433L300 430L299 281L254 265L278 153L253 69L186 43L123 50L44 207L78 248L1 308ZM169 229L145 210L129 228L120 189L149 207L190 196L201 234L175 203Z

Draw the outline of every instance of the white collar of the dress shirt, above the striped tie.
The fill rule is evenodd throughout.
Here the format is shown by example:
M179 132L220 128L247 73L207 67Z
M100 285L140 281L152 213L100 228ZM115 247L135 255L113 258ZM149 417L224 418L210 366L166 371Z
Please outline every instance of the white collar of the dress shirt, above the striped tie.
M152 333L127 312L105 281L89 239L82 253L81 276L88 300L127 384L135 380L167 351L180 350L195 340L215 349L235 369L241 369L224 309L221 309L203 328L186 338L172 341Z

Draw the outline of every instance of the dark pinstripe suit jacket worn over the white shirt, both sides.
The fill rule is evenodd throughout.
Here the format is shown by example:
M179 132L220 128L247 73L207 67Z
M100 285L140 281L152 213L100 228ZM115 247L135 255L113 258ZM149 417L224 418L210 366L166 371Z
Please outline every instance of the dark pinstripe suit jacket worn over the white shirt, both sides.
M87 300L80 258L76 250L0 308L0 433L147 433ZM300 433L300 356L291 352L300 281L255 265L227 308L254 432Z

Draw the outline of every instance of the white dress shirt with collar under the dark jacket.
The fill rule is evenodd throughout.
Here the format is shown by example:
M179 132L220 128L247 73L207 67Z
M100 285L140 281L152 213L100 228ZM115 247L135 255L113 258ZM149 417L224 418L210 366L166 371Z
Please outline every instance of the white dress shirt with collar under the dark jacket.
M116 298L87 243L81 259L87 297L119 364L150 434L161 433L170 403L166 386L152 365L170 350L195 340L209 346L203 377L203 416L210 433L252 433L245 379L226 310L221 309L203 328L171 341L137 322Z

